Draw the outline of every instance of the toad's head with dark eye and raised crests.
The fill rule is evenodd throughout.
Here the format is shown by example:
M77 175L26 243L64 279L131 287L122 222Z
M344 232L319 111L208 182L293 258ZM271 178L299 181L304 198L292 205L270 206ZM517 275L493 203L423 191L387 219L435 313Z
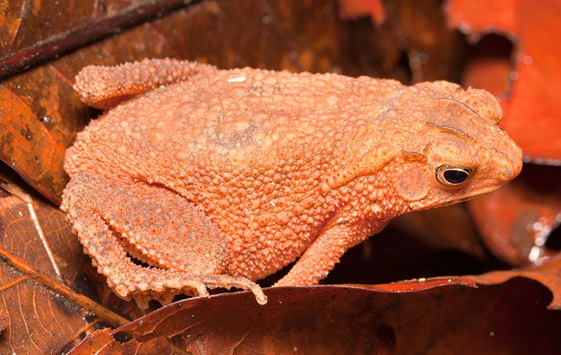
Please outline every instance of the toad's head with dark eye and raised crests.
M499 127L491 93L436 81L412 86L401 100L409 133L395 142L402 156L392 181L408 210L488 194L520 173L522 149Z

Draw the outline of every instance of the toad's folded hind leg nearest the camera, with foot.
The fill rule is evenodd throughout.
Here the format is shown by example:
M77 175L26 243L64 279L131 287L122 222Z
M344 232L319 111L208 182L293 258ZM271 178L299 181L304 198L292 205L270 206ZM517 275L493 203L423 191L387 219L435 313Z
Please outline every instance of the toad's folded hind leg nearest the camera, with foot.
M179 293L205 296L206 288L217 287L251 290L257 302L266 302L256 283L220 274L228 261L222 231L165 187L80 174L67 185L61 208L109 287L141 307ZM131 256L155 267L137 265Z

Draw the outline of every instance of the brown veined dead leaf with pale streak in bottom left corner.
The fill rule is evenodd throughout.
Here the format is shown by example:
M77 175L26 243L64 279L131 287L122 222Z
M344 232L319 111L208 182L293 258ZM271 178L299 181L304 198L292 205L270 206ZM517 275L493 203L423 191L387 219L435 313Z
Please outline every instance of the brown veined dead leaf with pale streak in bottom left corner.
M90 260L70 233L64 214L6 178L1 187L15 195L0 197L1 323L7 326L0 352L55 351L75 344L100 322L126 323L100 304L104 294L88 284ZM114 295L104 301L119 304ZM123 307L125 312L131 309ZM135 312L130 313L137 316Z

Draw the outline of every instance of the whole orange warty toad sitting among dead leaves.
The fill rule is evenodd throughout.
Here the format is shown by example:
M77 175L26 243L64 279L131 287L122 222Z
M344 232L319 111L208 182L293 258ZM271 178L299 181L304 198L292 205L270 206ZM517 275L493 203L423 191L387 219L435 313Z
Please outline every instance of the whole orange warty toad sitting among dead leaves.
M252 281L300 257L277 285L318 283L392 217L492 192L522 165L496 99L445 81L144 60L86 67L75 87L102 106L154 88L78 135L62 203L109 286L142 304L206 287L264 303Z

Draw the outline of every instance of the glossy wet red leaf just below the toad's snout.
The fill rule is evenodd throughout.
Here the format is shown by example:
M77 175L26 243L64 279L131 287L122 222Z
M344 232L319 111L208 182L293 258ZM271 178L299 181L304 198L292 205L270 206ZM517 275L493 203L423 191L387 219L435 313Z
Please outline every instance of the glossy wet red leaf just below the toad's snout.
M518 266L539 265L555 255L546 242L561 222L560 181L560 168L526 164L510 184L469 201L473 219L495 255Z

